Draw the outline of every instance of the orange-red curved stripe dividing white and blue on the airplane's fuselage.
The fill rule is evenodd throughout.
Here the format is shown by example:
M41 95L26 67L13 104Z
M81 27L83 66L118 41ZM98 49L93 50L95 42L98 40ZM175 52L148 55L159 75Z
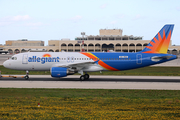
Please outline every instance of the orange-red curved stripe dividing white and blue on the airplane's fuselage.
M113 68L113 67L109 66L108 64L104 63L102 60L100 60L98 57L96 57L92 53L85 53L85 52L80 52L80 53L83 55L86 55L87 57L89 57L91 59L93 59L93 61L99 60L98 64L107 70L119 71L118 69Z

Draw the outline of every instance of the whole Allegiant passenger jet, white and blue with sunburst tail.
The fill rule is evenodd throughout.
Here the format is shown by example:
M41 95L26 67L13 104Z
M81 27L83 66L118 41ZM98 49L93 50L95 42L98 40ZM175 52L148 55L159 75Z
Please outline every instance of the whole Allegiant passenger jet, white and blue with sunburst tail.
M14 70L50 70L52 77L80 73L80 80L89 79L87 72L122 71L174 60L167 54L174 25L165 25L140 52L26 52L13 55L3 66ZM84 74L85 73L85 74Z

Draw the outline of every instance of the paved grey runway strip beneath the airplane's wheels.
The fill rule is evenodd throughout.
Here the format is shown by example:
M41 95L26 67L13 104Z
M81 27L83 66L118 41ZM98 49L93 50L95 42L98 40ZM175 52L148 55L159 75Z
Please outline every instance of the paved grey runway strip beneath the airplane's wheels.
M29 75L24 78L0 78L1 88L76 88L76 89L156 89L180 90L180 77L172 76L99 76L79 81L79 75L52 78Z

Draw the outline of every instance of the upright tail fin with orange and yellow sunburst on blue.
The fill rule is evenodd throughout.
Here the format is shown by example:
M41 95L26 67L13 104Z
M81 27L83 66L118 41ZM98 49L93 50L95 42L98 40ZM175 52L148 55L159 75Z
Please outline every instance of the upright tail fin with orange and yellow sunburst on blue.
M165 25L141 52L166 54L169 47L173 28L173 24Z

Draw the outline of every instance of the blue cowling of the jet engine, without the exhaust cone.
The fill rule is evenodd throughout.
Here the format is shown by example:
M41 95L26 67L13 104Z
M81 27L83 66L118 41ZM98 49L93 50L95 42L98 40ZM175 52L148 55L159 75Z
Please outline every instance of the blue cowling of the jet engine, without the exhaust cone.
M52 77L65 77L67 76L68 70L63 67L52 67L51 68L51 76Z

